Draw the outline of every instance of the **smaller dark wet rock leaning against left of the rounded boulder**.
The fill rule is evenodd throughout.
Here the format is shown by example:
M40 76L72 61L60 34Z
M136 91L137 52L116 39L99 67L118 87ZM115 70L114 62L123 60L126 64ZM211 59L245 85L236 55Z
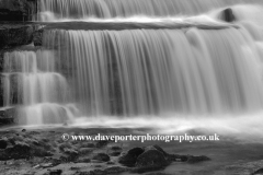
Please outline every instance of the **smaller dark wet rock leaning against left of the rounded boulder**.
M119 158L118 162L126 166L134 166L137 158L145 152L141 148L130 149L126 154Z

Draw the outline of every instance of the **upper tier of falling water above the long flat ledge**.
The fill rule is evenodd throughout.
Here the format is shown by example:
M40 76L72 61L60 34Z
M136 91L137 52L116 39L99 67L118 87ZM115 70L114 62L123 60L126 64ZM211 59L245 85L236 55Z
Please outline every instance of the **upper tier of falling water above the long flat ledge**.
M37 21L170 18L202 14L214 9L261 0L38 0Z

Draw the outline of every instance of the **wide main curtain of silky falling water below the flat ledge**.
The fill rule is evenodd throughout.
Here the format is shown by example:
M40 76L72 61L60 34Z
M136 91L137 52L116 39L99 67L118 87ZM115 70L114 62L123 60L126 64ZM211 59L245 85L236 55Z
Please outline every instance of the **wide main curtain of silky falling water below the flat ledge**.
M261 109L260 57L245 31L50 31L85 115ZM248 52L250 51L250 52Z

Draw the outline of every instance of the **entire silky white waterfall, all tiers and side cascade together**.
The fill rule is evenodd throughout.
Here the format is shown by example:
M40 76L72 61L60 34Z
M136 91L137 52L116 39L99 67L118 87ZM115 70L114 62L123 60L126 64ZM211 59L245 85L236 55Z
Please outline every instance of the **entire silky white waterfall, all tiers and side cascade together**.
M263 27L243 3L262 14L259 0L39 0L39 21L88 27L60 23L44 30L42 49L5 54L3 104L22 104L23 124L261 112ZM228 5L238 27L218 20ZM225 28L195 27L203 20ZM165 27L175 21L187 26Z

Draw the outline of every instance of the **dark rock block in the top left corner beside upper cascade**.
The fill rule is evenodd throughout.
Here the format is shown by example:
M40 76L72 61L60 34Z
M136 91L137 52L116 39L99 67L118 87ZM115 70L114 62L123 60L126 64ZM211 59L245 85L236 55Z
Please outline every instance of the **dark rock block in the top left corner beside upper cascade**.
M36 0L0 1L0 21L31 21L36 12Z

